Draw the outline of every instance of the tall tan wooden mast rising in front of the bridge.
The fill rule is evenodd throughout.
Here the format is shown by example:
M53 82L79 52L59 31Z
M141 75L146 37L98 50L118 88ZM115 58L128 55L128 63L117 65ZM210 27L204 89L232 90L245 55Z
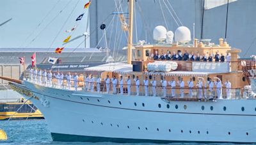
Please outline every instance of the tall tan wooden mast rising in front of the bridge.
M129 34L128 34L128 49L127 49L127 63L132 63L132 31L133 31L133 4L134 0L129 0Z

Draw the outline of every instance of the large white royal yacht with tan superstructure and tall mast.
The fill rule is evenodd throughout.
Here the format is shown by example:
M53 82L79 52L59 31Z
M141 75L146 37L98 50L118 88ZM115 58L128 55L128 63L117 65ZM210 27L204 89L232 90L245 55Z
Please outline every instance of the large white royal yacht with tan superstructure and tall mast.
M131 85L124 83L124 86L119 83L117 85L115 83L108 84L106 79L105 81L101 79L100 90L97 92L97 83L94 81L90 83L93 84L90 90L89 82L85 79L71 80L70 88L66 85L69 81L67 79L62 80L64 83L61 85L56 83L56 80L52 80L53 85L41 85L31 78L10 83L13 90L31 100L44 114L53 141L256 142L256 99L253 92L255 90L254 61L237 60L237 54L240 51L231 48L227 42L223 42L223 39L220 39L219 45L211 45L211 43L205 45L202 42L198 43L197 39L194 39L194 44L184 44L188 43L186 34L184 37L180 36L183 32L188 32L184 27L179 29L181 31L181 33L178 32L180 39L175 38L180 44L143 45L142 43L134 46L137 57L132 61L133 1L130 0L129 3L131 21L129 22L127 64L114 63L89 67L85 69L85 73L98 74L101 78L105 78L107 75L110 78L117 76L118 79L120 76L124 76L124 78L138 76L139 79L148 76L148 79L151 80L156 77L156 86L146 85L139 79L132 80ZM159 37L156 39L161 38L159 41L163 41L163 38L160 37L162 30L156 30L159 31ZM158 52L180 50L182 53L188 51L191 54L197 51L201 55L206 53L209 55L207 57L211 57L218 51L220 53L228 52L231 60L195 62L193 60L176 60L179 59L179 55L174 55L172 62L177 63L177 66L175 65L177 70L173 71L167 68L168 65L162 65L162 71L159 71L158 68L156 71L148 72L147 64L156 61L152 60L154 56L151 57L148 54L157 55L156 50ZM191 56L189 59L193 58ZM164 64L168 60L161 61L160 63ZM248 64L249 62L251 64ZM175 69L175 66L171 67ZM248 74L247 69L252 73ZM252 77L250 82L248 76ZM172 78L178 79L180 83L182 82L180 78L184 78L185 82L191 78L193 82L198 82L198 86L195 84L191 88L187 85L173 87L160 83L165 79L169 81ZM208 78L216 79L218 82L229 78L232 87L218 88L216 86L211 90L211 86L207 86L204 81ZM145 78L145 80L147 79ZM135 81L140 82L140 85L136 85ZM206 84L205 86L200 86L202 81ZM74 85L75 83L78 85L77 87ZM120 90L121 85L124 93ZM113 92L106 92L108 87ZM128 87L131 87L131 94L128 94ZM138 92L135 91L136 87L138 87ZM156 95L152 91L154 87L156 87ZM189 96L190 89L193 92L191 96ZM222 89L223 92L221 92ZM170 97L172 90L175 90L176 93L175 96ZM213 93L215 90L218 98ZM229 96L224 90L229 90ZM180 95L182 91L185 93L184 96ZM225 97L226 95L227 97Z

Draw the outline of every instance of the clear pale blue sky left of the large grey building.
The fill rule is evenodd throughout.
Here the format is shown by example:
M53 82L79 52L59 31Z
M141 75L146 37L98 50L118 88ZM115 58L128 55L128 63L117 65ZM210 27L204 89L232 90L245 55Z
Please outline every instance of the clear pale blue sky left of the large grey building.
M87 2L88 0L1 0L0 24L10 18L12 20L0 26L0 48L62 46L62 41L68 36L66 30L78 24L76 31L72 32L72 38L86 31L86 25L89 24L87 23L88 10L85 10L83 6ZM60 13L61 10L63 11ZM48 16L47 13L49 13ZM76 22L76 18L81 13L84 13L83 19ZM40 22L42 24L37 26ZM87 31L89 31L89 26ZM59 35L58 32L60 32ZM56 38L55 41L54 38ZM35 40L32 41L33 39ZM84 37L76 39L68 43L67 47L76 48L83 40ZM89 39L87 42L87 44L90 43ZM84 44L79 46L79 48L83 47Z

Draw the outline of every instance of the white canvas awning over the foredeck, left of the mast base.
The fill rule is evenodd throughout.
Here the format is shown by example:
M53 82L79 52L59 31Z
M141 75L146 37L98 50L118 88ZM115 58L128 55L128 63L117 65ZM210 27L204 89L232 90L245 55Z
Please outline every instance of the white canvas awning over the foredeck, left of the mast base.
M108 71L108 72L118 72L122 74L129 74L132 72L132 65L122 62L102 64L100 66L88 67L84 71Z

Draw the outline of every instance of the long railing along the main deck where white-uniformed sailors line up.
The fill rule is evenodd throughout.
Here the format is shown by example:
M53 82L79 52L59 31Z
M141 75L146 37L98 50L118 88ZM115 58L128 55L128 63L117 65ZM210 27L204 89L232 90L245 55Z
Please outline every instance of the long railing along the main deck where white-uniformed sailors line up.
M28 76L30 72L27 72ZM33 75L35 77L35 75ZM46 81L44 81L43 76L38 77L36 75L36 80L30 77L26 78L28 81L31 83L35 83L37 85L42 85L42 86L48 86L52 88L58 88L58 89L65 89L65 90L74 90L78 92L91 92L91 93L104 93L104 94L121 94L120 90L120 84L113 85L112 83L109 83L109 92L108 86L105 81L101 81L100 83L97 83L96 80L91 83L91 82L86 82L86 81L74 81L74 79L56 79L54 77L47 78ZM68 83L70 82L70 83ZM68 85L70 84L70 86ZM77 85L76 85L77 84ZM86 86L86 84L88 84ZM116 86L116 87L115 87ZM222 96L223 99L242 99L242 98L247 98L250 96L250 92L244 91L243 88L209 88L209 87L202 87L198 88L195 84L195 87L193 88L188 88L188 86L184 86L184 88L180 88L179 86L176 87L171 87L171 86L166 86L163 87L161 85L155 86L156 88L156 97L173 97L172 93L175 93L174 97L180 98L182 97L180 94L181 92L184 92L184 98L195 98L195 99L214 99L217 98L217 96ZM128 92L128 87L130 87L131 91L130 93ZM139 88L139 92L137 93L136 87ZM145 85L139 85L136 86L135 83L132 83L131 85L126 85L126 83L123 85L123 93L122 95L140 95L140 96L145 96L146 92L145 89L147 90L147 96L154 96L153 92L153 87L152 85L148 85L147 88L145 88ZM227 89L229 90L229 96L227 97ZM192 95L189 95L189 91L192 93ZM166 93L165 93L166 92ZM218 94L218 92L220 92ZM166 94L166 95L164 95ZM201 94L201 95L200 95Z

